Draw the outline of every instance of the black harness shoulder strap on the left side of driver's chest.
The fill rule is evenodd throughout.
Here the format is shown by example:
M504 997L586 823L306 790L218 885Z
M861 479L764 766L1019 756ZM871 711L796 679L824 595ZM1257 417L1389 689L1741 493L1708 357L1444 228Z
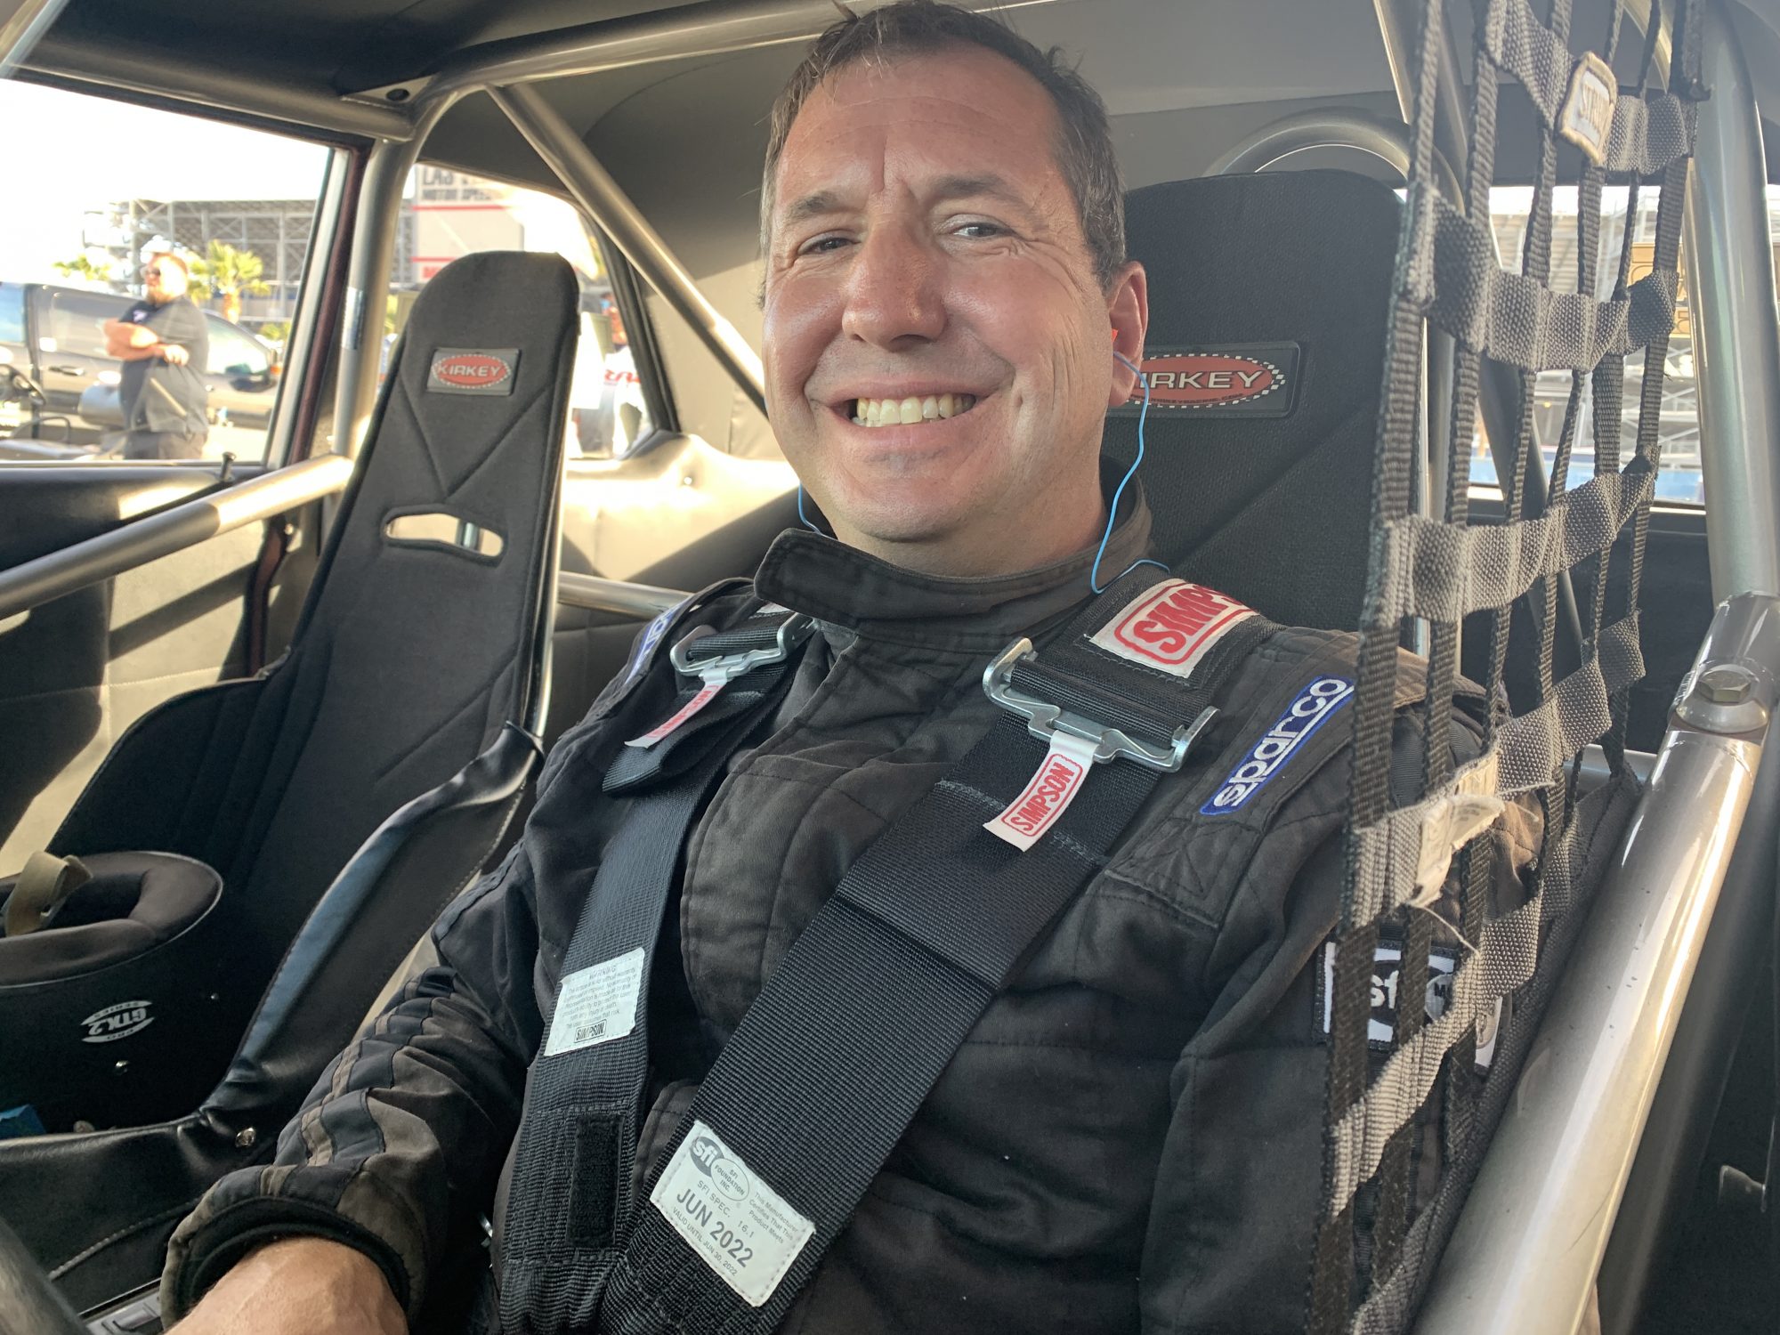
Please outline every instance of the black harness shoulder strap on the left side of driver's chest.
M692 684L607 769L605 792L634 801L595 874L527 1077L500 1258L504 1330L593 1321L596 1285L584 1280L616 1257L635 1209L648 977L680 849L724 762L771 717L812 628L783 609L728 630L694 628L671 651Z

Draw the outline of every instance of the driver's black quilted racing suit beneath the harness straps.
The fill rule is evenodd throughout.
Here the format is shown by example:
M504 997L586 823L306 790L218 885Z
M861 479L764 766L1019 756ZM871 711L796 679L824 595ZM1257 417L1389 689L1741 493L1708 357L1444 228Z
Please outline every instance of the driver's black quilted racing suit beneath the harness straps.
M1105 566L1146 545L1139 502ZM659 1061L641 1173L691 1102L698 1054L708 1064L853 860L999 717L979 684L988 659L1020 634L1043 641L1089 596L1089 562L940 578L789 532L749 593L682 612L655 664L614 682L555 746L513 856L440 918L436 958L320 1079L274 1166L224 1178L180 1226L169 1310L255 1241L312 1232L365 1248L420 1319L459 1269L454 1239L479 1214L506 1219L527 1066L619 819L602 774L669 712L668 643L762 598L821 623L776 732L730 760L685 851L691 1006L678 1032L651 1024L651 1043L662 1029L676 1056ZM1253 653L1185 769L1157 785L965 1040L781 1330L1301 1328L1323 1185L1317 975L1337 918L1351 716L1239 810L1202 806L1331 675L1353 675L1349 635L1282 628ZM1419 682L1406 659L1399 701ZM1399 746L1419 755L1413 719L1399 712ZM1456 749L1474 753L1472 739L1467 723ZM1534 831L1511 817L1497 890L1518 902L1511 869Z

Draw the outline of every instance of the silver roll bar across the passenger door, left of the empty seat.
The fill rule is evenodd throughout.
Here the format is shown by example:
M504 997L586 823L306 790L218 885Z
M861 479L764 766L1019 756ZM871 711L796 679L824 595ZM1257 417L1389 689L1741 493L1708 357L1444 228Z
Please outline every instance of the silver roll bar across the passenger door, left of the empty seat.
M249 482L210 491L132 520L36 561L0 571L0 618L109 580L206 538L299 509L331 497L352 477L352 461L340 454L304 459Z

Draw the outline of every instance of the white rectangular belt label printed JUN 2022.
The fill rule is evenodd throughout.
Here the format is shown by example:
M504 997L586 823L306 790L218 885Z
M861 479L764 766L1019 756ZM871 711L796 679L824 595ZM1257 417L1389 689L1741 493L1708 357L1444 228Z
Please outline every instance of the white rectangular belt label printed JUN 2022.
M703 1121L680 1141L650 1205L749 1307L773 1296L815 1232Z

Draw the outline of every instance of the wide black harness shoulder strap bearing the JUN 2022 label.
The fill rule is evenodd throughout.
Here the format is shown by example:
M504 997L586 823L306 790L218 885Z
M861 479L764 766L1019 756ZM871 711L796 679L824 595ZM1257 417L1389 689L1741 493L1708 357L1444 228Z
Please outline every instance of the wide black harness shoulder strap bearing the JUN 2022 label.
M1136 570L1041 655L1020 641L990 664L1018 717L854 863L767 981L602 1264L595 1328L778 1326L958 1045L1271 632Z

